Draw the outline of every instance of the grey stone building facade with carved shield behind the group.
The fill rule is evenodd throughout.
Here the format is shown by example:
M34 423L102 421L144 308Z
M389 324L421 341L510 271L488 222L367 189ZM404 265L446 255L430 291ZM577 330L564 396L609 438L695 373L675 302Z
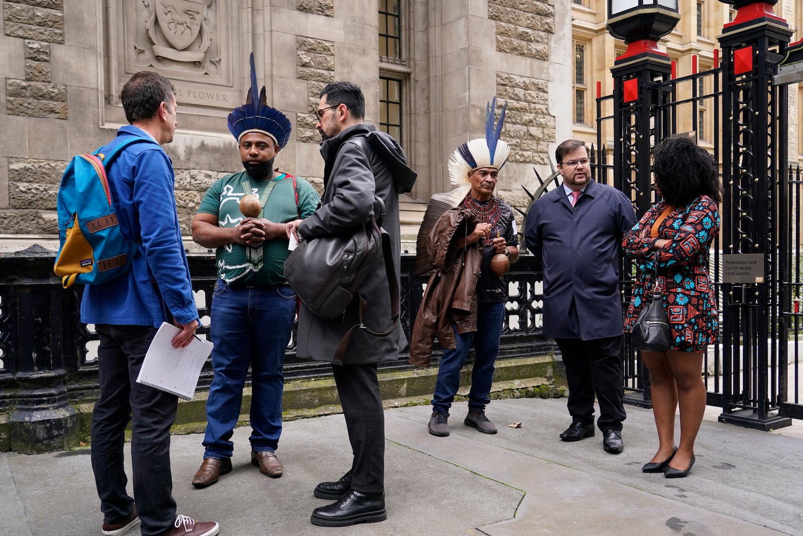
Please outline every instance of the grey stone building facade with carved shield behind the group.
M165 146L181 225L222 174L242 169L226 116L242 104L248 55L267 100L290 118L282 170L320 189L314 111L325 84L363 88L366 121L402 143L413 200L449 187L454 148L483 136L491 97L507 102L512 156L497 190L549 173L573 135L568 0L6 0L0 32L0 252L55 249L56 191L68 160L125 123L120 89L153 70L176 87L178 130ZM188 241L188 247L191 244Z

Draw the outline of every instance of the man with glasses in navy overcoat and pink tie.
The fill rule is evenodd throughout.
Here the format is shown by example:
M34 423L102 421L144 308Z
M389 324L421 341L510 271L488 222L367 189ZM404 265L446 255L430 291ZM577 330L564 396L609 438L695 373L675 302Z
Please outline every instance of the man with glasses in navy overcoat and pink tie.
M580 140L555 150L563 184L544 194L527 216L527 248L544 266L544 335L555 339L566 366L572 424L565 441L594 435L594 395L602 448L622 452L622 298L619 248L636 223L621 191L591 178Z

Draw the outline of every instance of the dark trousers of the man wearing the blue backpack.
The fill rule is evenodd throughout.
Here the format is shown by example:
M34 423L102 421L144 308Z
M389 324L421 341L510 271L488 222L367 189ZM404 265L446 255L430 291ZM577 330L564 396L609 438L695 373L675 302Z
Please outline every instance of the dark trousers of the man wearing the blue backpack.
M100 398L92 411L92 471L104 522L128 518L134 503L141 534L173 528L176 501L170 473L170 426L178 399L137 383L156 329L147 325L96 325L100 335ZM123 466L125 427L132 420L131 463L134 498L128 496Z

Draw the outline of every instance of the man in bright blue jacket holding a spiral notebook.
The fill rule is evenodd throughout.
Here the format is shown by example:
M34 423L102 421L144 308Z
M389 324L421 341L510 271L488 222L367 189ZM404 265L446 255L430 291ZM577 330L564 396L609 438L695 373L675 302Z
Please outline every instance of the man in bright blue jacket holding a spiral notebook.
M190 267L181 242L173 163L161 145L173 141L176 96L155 72L137 72L120 94L130 125L105 149L130 139L107 169L120 231L140 247L131 270L84 288L81 321L100 338L100 398L92 412L92 470L104 513L103 534L120 536L141 522L143 536L212 536L218 523L176 515L170 474L170 426L178 399L137 383L145 353L162 322L181 328L173 346L190 344L198 328ZM103 150L103 149L102 149ZM101 150L101 152L102 152ZM132 420L134 497L126 493L125 427Z

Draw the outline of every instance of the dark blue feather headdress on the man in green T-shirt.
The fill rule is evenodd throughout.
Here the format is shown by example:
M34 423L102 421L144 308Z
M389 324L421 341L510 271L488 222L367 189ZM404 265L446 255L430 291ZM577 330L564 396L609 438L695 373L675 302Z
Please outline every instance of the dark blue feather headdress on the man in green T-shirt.
M229 132L239 143L243 134L250 132L263 133L273 138L279 149L283 149L290 140L292 126L290 120L276 108L267 105L265 86L262 92L256 84L254 53L251 52L251 89L248 90L246 104L234 108L229 114Z

